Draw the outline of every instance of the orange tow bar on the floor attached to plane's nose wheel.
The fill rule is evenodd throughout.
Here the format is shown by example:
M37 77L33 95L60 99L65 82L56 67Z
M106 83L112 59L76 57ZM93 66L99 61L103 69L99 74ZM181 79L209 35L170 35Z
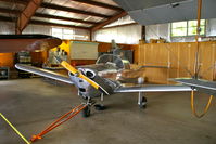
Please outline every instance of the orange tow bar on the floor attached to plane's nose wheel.
M87 106L88 106L88 104L80 104L79 106L73 108L71 112L66 113L65 115L63 115L62 117L56 119L54 122L52 122L50 126L48 126L48 128L46 128L42 132L40 132L37 135L33 135L30 141L35 142L36 140L42 139L42 135L45 135L46 133L50 132L51 130L53 130L54 128L59 127L60 125L66 122L67 120L69 120L71 118L73 118L74 116L79 114Z

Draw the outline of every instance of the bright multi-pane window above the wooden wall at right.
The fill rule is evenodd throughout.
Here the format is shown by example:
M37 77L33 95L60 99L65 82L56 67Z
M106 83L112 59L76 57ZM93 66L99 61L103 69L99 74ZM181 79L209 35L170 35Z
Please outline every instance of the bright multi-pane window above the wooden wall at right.
M201 32L200 35L205 35L205 19L201 19ZM171 37L183 37L183 36L194 36L196 35L196 21L186 21L171 23Z

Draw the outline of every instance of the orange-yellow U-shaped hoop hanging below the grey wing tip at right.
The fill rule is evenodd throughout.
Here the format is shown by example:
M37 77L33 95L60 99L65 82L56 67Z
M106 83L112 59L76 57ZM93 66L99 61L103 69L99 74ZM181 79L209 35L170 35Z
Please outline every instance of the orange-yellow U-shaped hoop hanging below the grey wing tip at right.
M202 118L202 117L207 113L207 110L209 109L209 105L211 105L211 103L212 103L212 100L213 100L213 95L209 96L208 102L207 102L207 104L206 104L206 106L205 106L204 112L203 112L202 114L199 115L199 114L196 113L195 108L194 108L194 91L191 91L191 109L192 109L193 115L194 115L196 118Z

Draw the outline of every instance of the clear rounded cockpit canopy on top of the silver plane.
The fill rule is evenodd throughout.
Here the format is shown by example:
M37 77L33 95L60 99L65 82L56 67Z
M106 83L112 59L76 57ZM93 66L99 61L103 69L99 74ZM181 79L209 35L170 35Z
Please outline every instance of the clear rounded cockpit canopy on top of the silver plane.
M96 64L110 64L115 66L117 69L130 69L130 62L128 60L123 60L118 55L114 54L103 54L101 55Z

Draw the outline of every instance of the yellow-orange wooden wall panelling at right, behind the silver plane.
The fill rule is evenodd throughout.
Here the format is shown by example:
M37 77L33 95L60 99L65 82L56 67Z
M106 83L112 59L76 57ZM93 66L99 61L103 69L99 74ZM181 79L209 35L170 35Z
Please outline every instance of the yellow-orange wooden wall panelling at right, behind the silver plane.
M216 78L216 42L200 42L200 74L203 79ZM171 83L168 78L194 75L195 42L150 43L139 45L139 65L164 66L169 68L144 68L150 82ZM191 73L191 75L190 75Z

